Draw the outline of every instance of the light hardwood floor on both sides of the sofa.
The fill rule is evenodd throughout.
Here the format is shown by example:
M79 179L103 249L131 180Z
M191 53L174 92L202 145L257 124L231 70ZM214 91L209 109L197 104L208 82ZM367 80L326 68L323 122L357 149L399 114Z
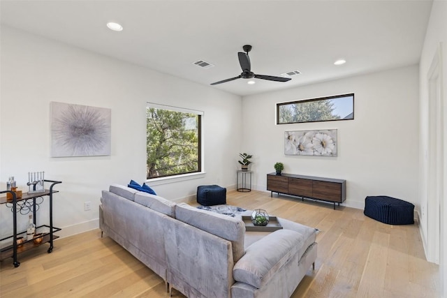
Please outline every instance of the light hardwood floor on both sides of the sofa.
M192 204L192 203L191 203ZM438 266L425 261L418 225L386 225L360 209L270 193L229 191L227 204L265 209L321 230L318 258L298 297L439 297ZM0 297L168 297L163 280L100 230L57 239L0 263ZM174 291L173 297L184 297ZM220 298L220 297L217 297ZM274 297L272 297L274 298Z

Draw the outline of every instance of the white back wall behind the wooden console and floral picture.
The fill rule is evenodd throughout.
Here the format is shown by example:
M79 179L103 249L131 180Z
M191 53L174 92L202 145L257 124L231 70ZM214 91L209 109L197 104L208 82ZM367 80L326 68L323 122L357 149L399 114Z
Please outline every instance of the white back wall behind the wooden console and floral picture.
M299 80L297 77L294 80ZM275 125L275 104L355 94L354 120ZM346 205L363 208L367 195L418 205L418 67L312 84L243 98L242 147L254 154L254 184L276 162L284 172L346 179ZM284 131L337 129L338 156L285 156Z

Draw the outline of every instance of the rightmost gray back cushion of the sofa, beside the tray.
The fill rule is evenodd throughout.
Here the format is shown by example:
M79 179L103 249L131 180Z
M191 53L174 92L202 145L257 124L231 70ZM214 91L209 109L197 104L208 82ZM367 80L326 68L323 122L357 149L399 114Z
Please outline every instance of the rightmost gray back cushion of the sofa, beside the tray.
M175 218L230 241L234 262L237 262L244 255L245 225L242 220L228 215L200 210L185 203L177 204L177 207L175 207Z

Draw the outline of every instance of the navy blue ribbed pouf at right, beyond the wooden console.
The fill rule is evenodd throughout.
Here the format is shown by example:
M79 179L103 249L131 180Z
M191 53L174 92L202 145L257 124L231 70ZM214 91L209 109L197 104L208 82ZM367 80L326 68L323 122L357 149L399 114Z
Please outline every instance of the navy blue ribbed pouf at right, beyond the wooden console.
M413 225L414 205L386 195L365 198L363 214L388 225Z

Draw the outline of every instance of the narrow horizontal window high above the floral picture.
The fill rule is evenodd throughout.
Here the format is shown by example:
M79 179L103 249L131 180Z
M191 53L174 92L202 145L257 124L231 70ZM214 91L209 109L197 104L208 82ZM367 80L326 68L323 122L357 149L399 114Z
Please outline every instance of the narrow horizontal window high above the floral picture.
M354 94L277 104L277 124L354 119Z

